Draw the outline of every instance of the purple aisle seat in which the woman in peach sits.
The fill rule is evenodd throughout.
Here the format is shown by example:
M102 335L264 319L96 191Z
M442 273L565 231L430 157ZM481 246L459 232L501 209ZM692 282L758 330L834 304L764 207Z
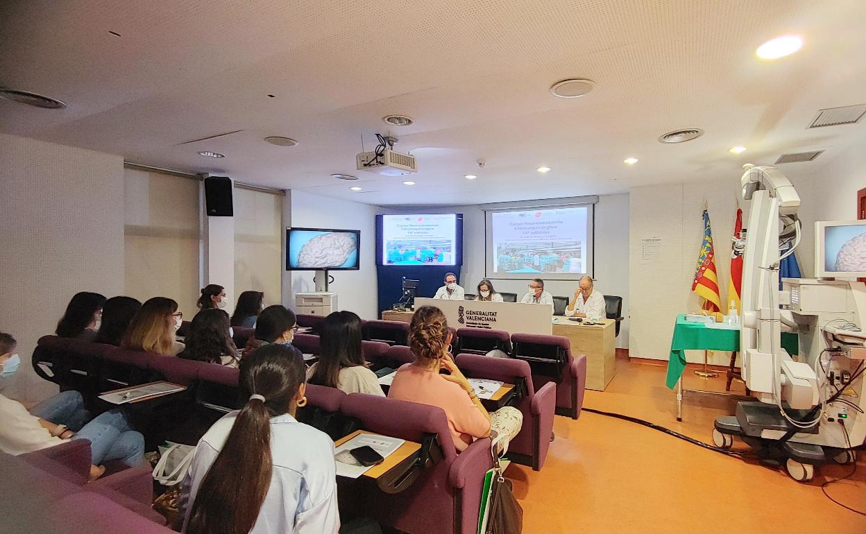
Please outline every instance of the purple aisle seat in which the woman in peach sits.
M404 492L358 492L365 515L413 534L470 534L477 530L484 473L493 465L490 440L475 441L457 454L442 409L415 402L352 393L341 411L378 434L422 442L436 434L443 460L428 466Z

